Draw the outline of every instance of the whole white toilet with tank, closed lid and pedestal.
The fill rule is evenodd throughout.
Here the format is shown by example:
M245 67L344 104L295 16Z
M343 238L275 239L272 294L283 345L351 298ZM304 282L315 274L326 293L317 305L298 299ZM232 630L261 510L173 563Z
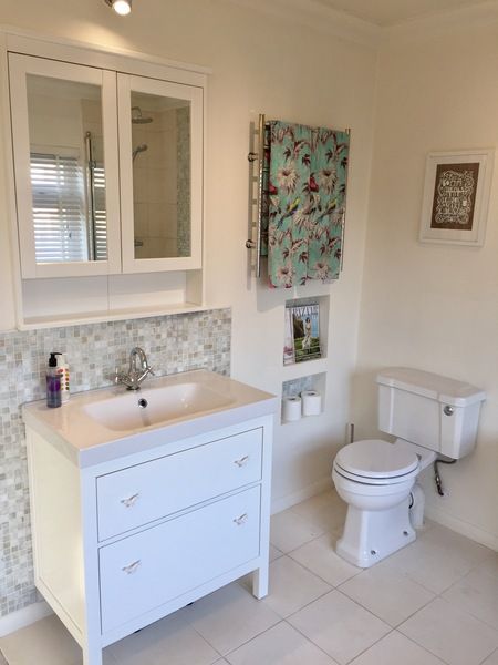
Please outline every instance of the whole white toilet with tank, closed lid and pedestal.
M474 449L486 398L469 383L404 367L383 370L376 382L378 429L396 441L344 446L332 469L335 489L347 503L336 553L360 567L415 540L409 507L417 475L438 456L457 460Z

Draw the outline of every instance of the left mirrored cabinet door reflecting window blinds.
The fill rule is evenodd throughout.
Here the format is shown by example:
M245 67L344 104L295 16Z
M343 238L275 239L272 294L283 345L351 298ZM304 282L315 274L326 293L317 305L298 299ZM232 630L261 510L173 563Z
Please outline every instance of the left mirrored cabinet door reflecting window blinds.
M115 74L10 54L24 278L121 270Z

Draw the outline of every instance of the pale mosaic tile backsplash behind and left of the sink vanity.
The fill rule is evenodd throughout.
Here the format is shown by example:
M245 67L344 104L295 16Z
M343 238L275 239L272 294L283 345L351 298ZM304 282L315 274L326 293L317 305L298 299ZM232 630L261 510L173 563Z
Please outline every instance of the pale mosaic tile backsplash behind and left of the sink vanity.
M20 407L44 399L49 354L68 355L71 392L81 392L111 385L134 346L145 350L157 376L201 367L228 375L230 332L230 309L0 332L0 616L39 600Z

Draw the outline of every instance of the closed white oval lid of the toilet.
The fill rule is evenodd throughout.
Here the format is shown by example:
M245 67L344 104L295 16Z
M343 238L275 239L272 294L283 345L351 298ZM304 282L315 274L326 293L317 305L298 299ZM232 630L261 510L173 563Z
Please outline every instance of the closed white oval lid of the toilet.
M335 466L362 478L406 475L418 467L415 452L382 439L364 439L341 448Z

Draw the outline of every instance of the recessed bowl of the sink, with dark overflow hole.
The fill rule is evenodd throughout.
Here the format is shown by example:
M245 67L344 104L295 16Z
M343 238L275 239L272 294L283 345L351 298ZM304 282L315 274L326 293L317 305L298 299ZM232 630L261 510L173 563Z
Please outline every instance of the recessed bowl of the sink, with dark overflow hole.
M228 407L235 400L204 383L144 387L86 405L86 415L104 427L123 432L166 424L170 420ZM141 406L146 403L146 406Z

